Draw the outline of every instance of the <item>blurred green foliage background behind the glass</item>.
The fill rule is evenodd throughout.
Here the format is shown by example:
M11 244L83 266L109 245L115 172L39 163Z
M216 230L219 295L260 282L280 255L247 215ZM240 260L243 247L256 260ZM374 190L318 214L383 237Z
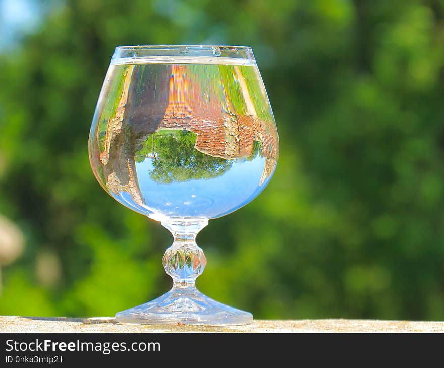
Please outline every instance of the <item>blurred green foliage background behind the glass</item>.
M245 44L280 160L199 234L200 290L255 318L444 319L444 1L30 3L39 24L0 49L0 239L24 238L0 314L112 316L169 289L171 235L89 166L101 84L117 45Z

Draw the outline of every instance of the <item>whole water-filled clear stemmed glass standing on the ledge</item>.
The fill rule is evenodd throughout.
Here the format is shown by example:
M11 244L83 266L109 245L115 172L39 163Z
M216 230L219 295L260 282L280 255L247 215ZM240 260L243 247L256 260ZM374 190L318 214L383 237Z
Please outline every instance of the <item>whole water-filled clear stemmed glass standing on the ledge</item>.
M123 324L240 325L253 316L196 289L209 219L253 200L278 160L278 132L252 49L117 47L89 137L92 170L124 206L160 221L166 294L116 314Z

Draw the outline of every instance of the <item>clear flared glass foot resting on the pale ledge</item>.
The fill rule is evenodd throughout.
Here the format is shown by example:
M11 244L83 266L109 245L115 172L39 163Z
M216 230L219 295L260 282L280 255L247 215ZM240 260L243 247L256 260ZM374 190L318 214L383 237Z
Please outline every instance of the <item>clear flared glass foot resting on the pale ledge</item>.
M173 288L145 304L116 314L119 324L246 325L253 315L205 296L196 288Z

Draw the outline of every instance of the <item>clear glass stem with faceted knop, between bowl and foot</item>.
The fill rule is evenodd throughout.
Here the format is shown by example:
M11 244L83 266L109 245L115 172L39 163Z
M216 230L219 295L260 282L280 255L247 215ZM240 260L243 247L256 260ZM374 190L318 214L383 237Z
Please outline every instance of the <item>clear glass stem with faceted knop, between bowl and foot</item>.
M165 252L162 264L173 279L173 289L195 289L196 278L203 272L206 258L196 244L196 235L208 225L206 218L168 219L162 225L173 234L174 242Z

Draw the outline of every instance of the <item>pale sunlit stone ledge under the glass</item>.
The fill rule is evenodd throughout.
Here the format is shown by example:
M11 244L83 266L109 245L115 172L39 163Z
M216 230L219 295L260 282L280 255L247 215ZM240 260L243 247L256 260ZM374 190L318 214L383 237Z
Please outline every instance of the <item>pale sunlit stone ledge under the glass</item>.
M444 322L255 320L244 326L118 325L112 317L0 316L0 332L444 332Z

